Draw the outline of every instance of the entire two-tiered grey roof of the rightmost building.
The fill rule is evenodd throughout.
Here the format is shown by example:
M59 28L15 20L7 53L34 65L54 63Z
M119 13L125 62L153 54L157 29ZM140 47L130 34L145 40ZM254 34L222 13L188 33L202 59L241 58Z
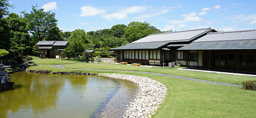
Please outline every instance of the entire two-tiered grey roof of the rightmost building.
M256 30L208 33L178 50L256 49Z

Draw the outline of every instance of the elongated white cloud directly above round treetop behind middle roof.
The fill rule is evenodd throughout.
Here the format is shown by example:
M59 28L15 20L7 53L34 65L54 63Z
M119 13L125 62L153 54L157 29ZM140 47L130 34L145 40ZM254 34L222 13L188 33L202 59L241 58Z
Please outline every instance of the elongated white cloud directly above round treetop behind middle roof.
M143 13L147 11L148 6L132 6L120 10L121 13Z

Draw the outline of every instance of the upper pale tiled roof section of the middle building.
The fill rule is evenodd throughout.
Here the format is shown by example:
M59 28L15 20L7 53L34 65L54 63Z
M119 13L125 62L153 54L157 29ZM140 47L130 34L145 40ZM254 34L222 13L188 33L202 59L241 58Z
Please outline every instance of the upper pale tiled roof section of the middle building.
M151 34L147 37L144 37L131 43L187 40L192 39L193 37L197 37L198 35L209 30L211 30L211 28Z

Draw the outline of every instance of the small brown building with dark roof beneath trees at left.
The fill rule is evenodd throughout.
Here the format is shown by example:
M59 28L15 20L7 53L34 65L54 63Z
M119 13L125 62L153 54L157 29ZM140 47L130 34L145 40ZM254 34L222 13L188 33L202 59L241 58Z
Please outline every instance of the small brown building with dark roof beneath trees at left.
M43 52L37 54L41 58L65 58L61 52L68 46L68 41L38 41L39 49Z

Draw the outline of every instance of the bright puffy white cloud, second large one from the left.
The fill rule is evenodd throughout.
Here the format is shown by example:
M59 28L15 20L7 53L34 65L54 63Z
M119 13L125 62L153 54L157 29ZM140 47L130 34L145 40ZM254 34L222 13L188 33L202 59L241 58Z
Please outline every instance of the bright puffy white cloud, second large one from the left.
M106 9L100 9L99 7L84 6L80 9L82 10L82 13L79 15L79 17L95 16L106 12Z

